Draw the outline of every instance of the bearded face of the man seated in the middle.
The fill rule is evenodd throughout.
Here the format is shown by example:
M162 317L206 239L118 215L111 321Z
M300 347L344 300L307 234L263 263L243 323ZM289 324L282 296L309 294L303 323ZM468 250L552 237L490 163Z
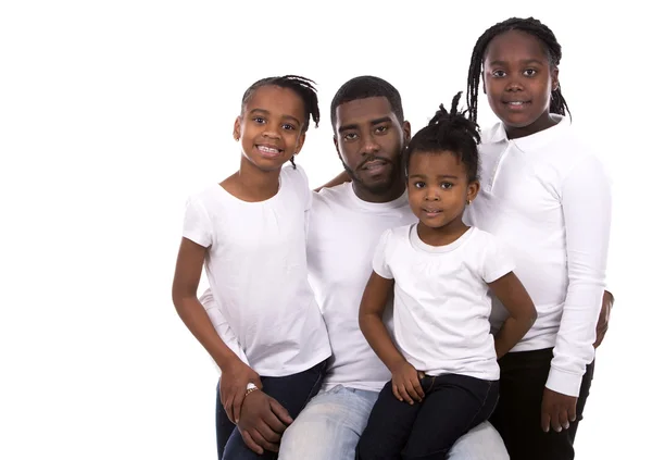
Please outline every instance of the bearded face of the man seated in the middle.
M356 195L383 201L404 189L401 153L410 124L401 124L385 97L344 102L336 109L335 145Z

